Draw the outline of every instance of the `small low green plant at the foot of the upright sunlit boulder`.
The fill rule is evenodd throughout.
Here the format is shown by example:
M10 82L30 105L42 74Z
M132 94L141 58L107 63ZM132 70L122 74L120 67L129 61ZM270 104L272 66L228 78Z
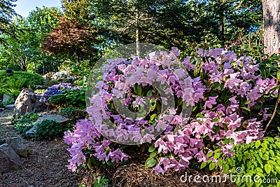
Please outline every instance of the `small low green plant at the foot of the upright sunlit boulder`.
M14 125L15 130L20 134L24 134L33 127L34 122L38 119L37 113L27 113L21 116L15 116L11 123Z

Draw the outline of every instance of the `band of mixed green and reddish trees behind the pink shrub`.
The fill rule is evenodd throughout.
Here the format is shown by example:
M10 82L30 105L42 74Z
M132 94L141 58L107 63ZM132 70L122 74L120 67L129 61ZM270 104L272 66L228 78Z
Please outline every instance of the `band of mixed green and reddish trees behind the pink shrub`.
M263 46L244 43L249 34L262 33L260 0L62 0L62 11L36 8L27 18L16 19L13 2L1 1L0 21L18 29L17 37L1 26L6 43L0 46L1 69L45 74L75 65L90 70L107 50L136 41L178 46L183 55L195 53L205 42L240 55Z

